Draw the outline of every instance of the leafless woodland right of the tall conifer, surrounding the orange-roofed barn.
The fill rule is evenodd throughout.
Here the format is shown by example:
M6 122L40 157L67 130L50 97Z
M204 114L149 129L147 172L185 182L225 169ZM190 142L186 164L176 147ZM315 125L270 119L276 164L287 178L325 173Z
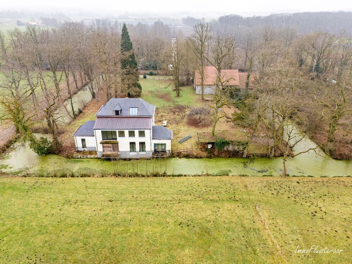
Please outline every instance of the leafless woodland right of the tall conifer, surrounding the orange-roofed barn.
M251 131L253 140L263 133L273 140L269 156L275 149L285 159L298 154L290 148L304 137L291 126L297 124L329 155L351 158L352 36L346 31L300 34L270 26L232 31L218 23L197 24L190 37L178 32L171 38L165 25L139 24L130 31L141 68L172 75L177 96L195 70L202 76L203 66L216 68L212 133L226 116L221 108L235 105L241 112L233 122ZM237 68L247 72L245 83L227 87L221 69Z

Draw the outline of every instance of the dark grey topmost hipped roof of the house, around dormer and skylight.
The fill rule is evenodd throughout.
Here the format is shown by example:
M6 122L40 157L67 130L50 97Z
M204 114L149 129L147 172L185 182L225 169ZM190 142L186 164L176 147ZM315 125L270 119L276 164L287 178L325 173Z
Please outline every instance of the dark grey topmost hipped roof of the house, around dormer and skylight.
M97 117L120 117L130 116L130 107L137 107L137 116L152 117L154 114L155 106L147 103L140 98L112 98L106 105L103 105L98 113ZM120 115L115 115L114 110L119 110L121 108Z

